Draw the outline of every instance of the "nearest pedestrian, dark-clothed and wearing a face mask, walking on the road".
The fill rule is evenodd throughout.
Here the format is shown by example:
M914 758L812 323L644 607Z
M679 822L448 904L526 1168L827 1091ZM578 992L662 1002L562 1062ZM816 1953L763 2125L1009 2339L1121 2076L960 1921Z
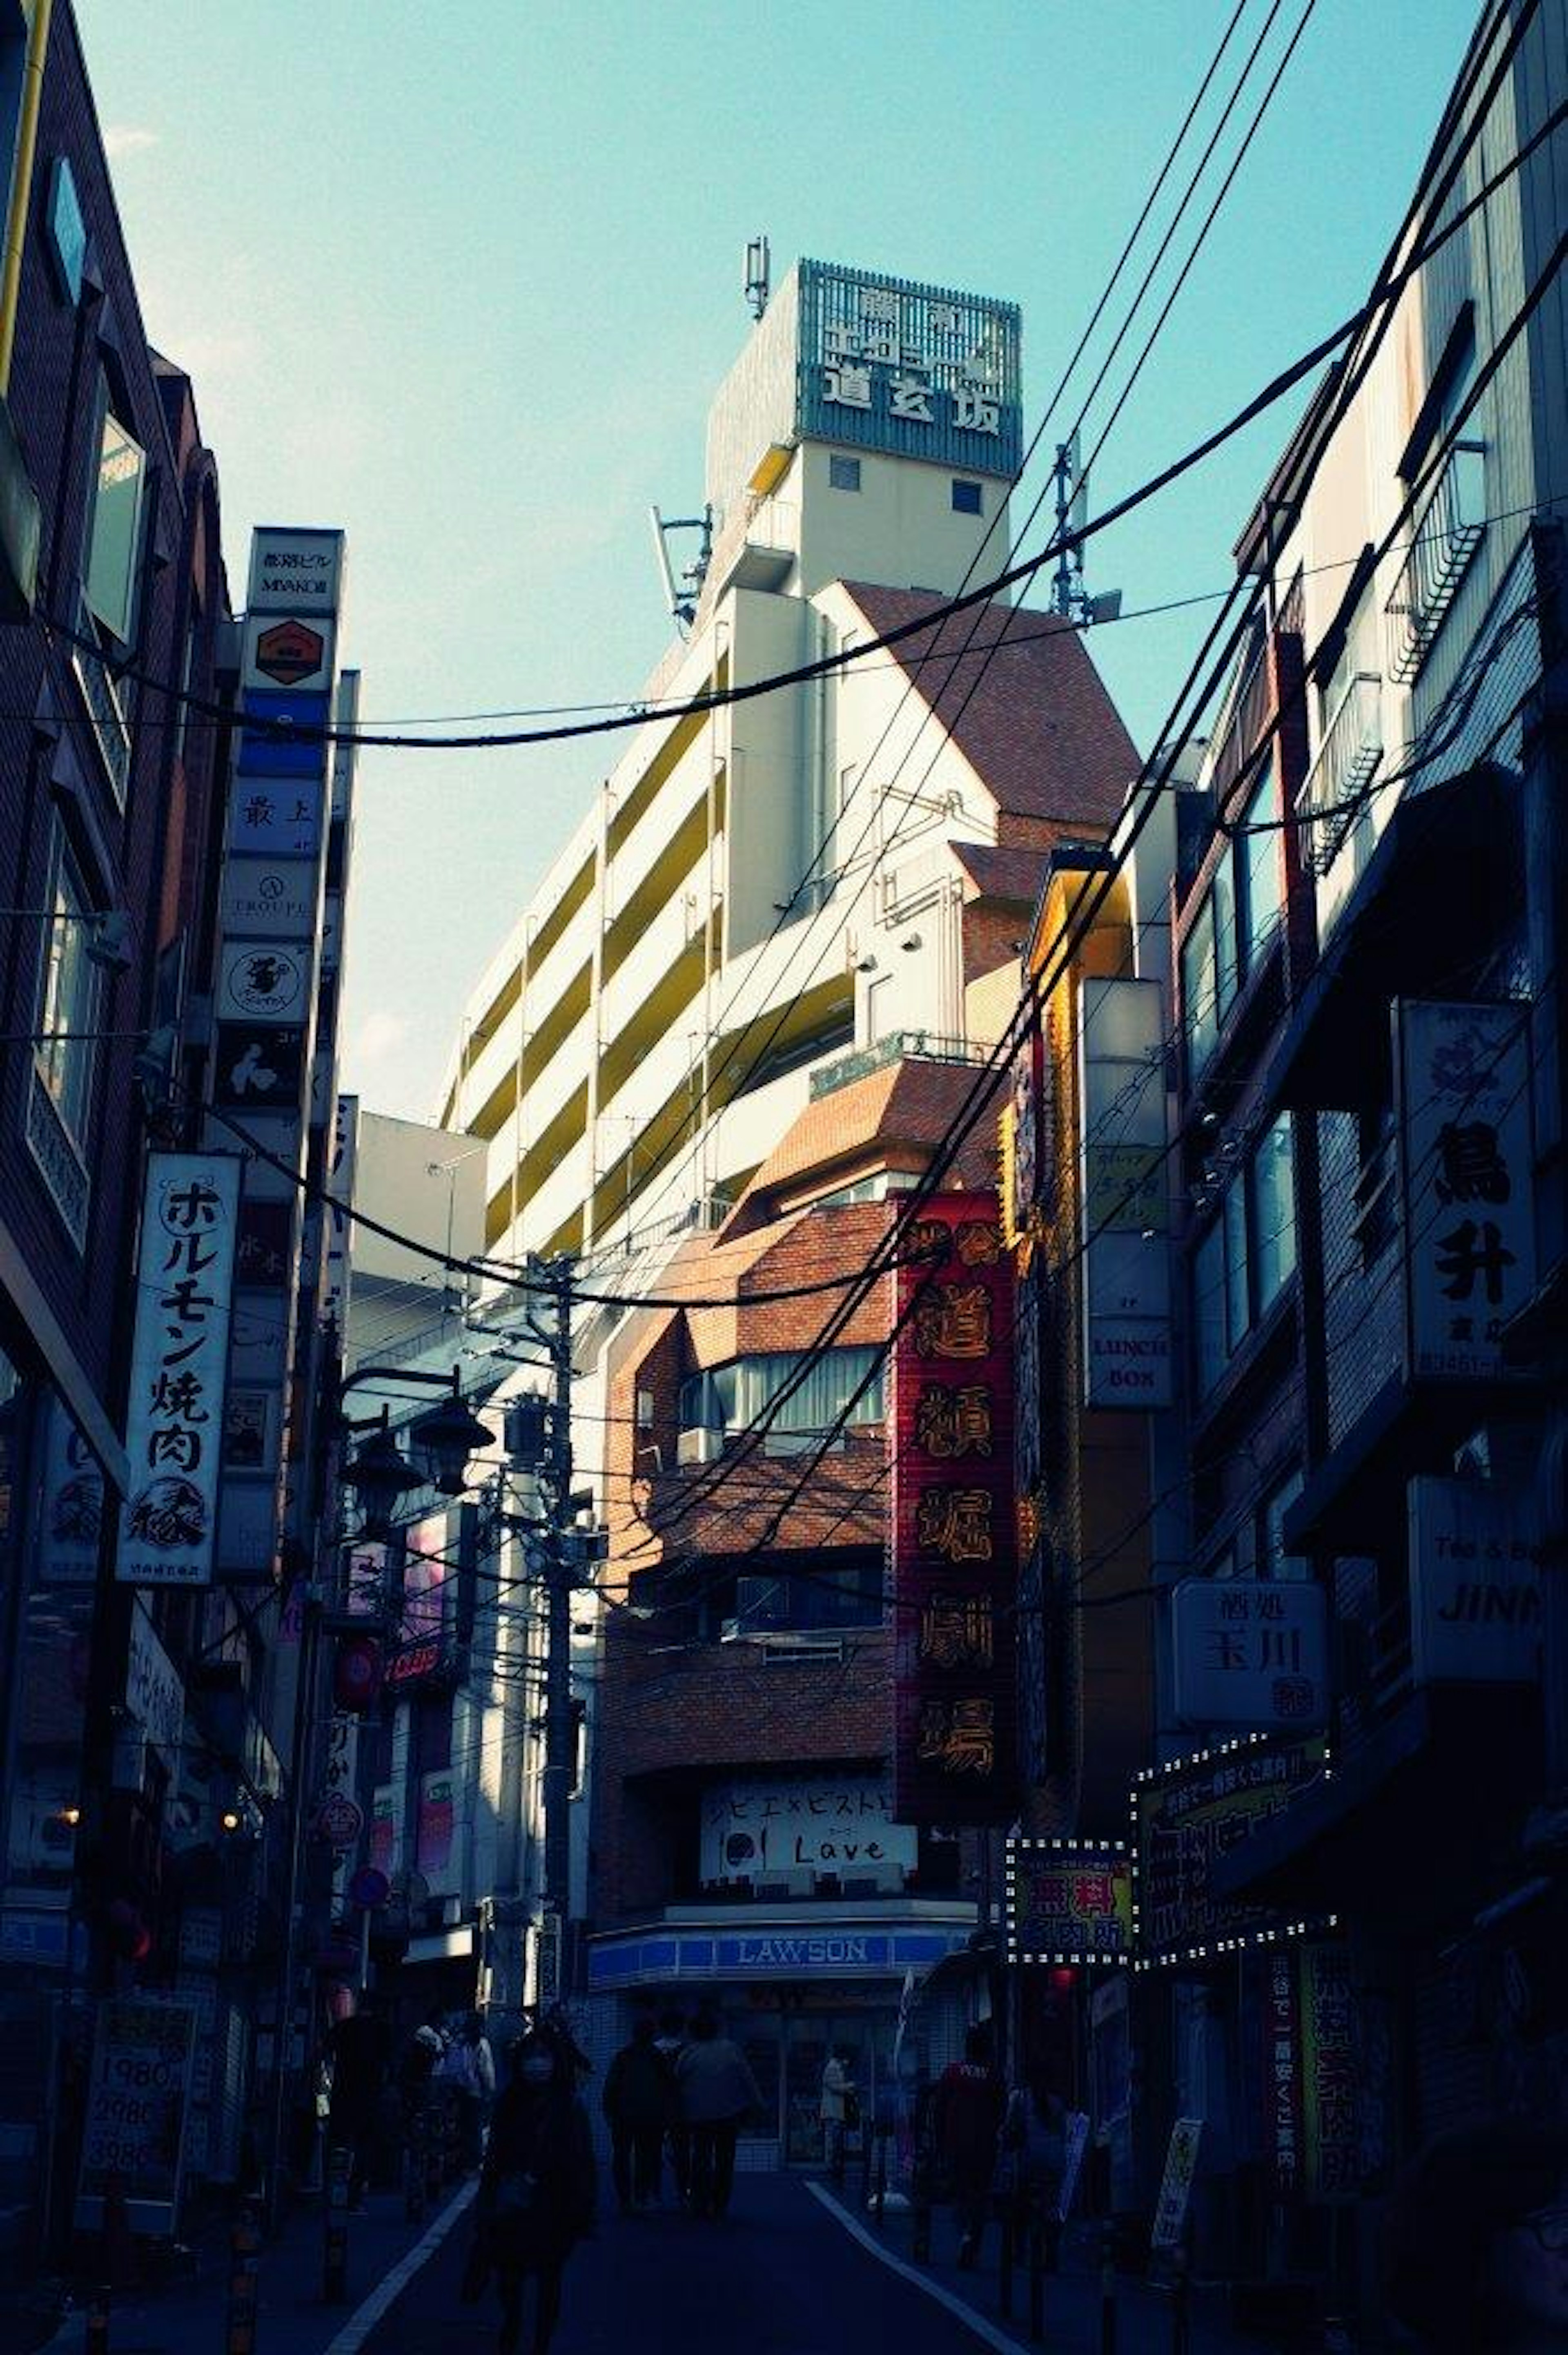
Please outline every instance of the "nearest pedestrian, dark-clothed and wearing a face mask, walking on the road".
M530 2355L546 2355L560 2317L560 2282L577 2242L593 2230L593 2143L567 2046L534 2028L513 2046L511 2077L490 2120L473 2202L464 2301L494 2275L501 2294L499 2355L523 2346L523 2303L534 2287Z

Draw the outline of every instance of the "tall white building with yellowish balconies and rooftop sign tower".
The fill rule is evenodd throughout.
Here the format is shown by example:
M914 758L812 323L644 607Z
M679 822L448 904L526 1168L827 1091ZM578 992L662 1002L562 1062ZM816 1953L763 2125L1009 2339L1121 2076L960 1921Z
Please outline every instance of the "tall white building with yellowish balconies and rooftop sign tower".
M711 410L711 558L647 683L673 711L464 1013L443 1126L485 1140L492 1253L657 1241L735 1201L824 1062L998 1036L1041 853L1102 836L1135 765L1076 629L930 619L1005 570L1019 455L1012 304L789 271Z

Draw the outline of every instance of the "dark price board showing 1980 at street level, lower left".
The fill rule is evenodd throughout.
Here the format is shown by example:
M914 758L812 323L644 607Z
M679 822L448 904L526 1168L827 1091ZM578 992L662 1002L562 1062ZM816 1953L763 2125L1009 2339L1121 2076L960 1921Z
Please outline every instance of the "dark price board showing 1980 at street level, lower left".
M167 2240L179 2218L195 2011L139 1997L99 2004L75 2195L78 2230L99 2230L111 2195L132 2233Z

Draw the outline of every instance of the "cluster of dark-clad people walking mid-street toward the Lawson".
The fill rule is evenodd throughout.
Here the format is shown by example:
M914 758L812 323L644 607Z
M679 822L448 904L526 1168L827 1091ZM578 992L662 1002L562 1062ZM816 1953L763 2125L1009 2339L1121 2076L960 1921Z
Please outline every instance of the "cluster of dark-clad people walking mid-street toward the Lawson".
M676 2204L716 2221L730 2211L735 2143L763 2094L718 2016L643 2014L605 2070L603 2112L622 2216L662 2204L669 2155Z

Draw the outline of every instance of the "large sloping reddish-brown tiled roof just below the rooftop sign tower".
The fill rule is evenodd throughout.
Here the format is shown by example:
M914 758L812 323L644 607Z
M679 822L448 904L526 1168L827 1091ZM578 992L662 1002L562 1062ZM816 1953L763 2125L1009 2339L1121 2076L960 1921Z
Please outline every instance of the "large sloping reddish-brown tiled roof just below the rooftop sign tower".
M843 586L878 638L944 605L930 589ZM1116 822L1137 751L1069 622L1026 605L975 605L888 652L998 808L1097 831Z

